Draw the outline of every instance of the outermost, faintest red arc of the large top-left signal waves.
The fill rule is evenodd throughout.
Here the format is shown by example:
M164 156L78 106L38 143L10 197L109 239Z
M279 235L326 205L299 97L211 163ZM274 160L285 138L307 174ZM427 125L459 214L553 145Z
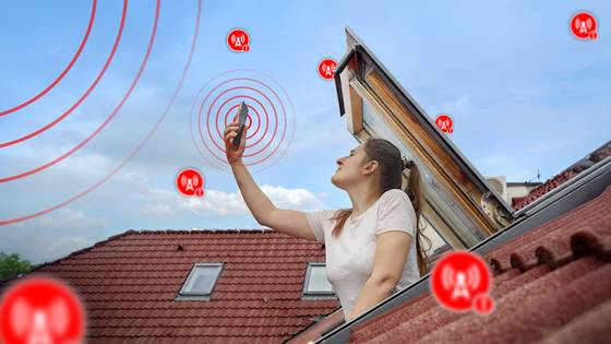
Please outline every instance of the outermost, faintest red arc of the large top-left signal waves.
M156 17L158 17L159 15L159 0L157 0L157 8L156 8ZM1 220L0 221L0 225L10 225L10 224L14 224L14 223L20 223L20 222L24 222L27 220L32 220L35 218L37 216L41 216L45 214L48 214L50 212L53 212L58 209L61 209L62 206L65 206L72 202L74 202L75 200L82 198L83 195L89 193L91 191L93 191L94 189L96 189L97 187L101 186L103 183L105 183L108 179L110 179L112 176L115 176L115 174L117 174L123 166L125 166L125 164L132 159L139 152L140 150L144 146L144 144L146 144L146 142L148 142L148 140L151 139L151 137L155 133L155 131L157 131L157 129L159 128L159 124L164 121L164 119L166 118L166 116L168 115L170 108L172 107L173 103L176 102L176 98L178 97L178 94L180 92L180 90L182 88L182 85L184 83L184 79L187 78L187 73L189 72L189 67L191 66L191 61L193 58L193 51L195 50L195 45L197 41L197 36L199 36L199 32L200 32L200 19L202 15L202 0L197 0L197 10L195 12L195 27L193 31L193 38L191 40L191 48L189 50L189 56L187 58L187 62L184 64L184 68L182 70L182 74L180 76L180 80L176 86L176 90L171 96L171 98L168 102L168 105L166 106L166 108L164 109L164 111L161 112L161 116L159 117L159 119L157 120L157 122L155 123L155 126L153 126L153 129L148 132L148 134L144 138L144 140L130 153L130 155L128 157L125 157L125 159L123 159L121 162L121 164L119 164L113 170L111 170L108 175L106 175L104 178L101 178L100 180L98 180L96 183L94 183L93 186L91 186L89 188L87 188L86 190L82 191L81 193L77 193L75 195L73 195L72 198L56 204L55 206L45 209L43 211L29 214L29 215L25 215L25 216L21 216L21 217L15 217L15 218L10 218L10 220ZM155 26L156 27L156 26Z

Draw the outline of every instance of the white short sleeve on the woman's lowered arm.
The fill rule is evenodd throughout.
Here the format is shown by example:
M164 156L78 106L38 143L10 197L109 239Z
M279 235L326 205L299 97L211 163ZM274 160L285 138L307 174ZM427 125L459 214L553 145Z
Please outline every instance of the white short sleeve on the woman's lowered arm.
M375 235L390 230L405 232L411 237L416 229L416 212L405 191L393 189L383 194L378 213Z

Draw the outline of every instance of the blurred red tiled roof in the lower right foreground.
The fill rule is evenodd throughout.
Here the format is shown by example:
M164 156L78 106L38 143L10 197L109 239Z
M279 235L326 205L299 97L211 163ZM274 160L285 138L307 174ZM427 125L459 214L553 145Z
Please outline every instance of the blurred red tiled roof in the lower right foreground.
M421 295L352 329L358 343L603 343L611 337L611 186L499 246L489 316ZM608 342L607 342L608 343Z

